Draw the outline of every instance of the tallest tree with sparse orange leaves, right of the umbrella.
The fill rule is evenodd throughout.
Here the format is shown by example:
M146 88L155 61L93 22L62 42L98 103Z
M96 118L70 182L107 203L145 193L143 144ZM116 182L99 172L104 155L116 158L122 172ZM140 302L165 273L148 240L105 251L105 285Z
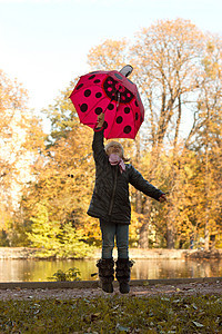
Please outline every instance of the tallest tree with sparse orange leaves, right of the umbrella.
M152 150L152 171L149 170L147 176L151 180L155 179L163 145L173 147L172 177L168 188L171 193L175 190L176 169L173 160L178 154L181 122L188 109L195 104L195 94L202 80L203 33L190 21L182 19L158 21L138 33L131 52L138 68L134 81L140 87L148 110L145 136ZM171 216L168 216L167 239L168 247L172 248L174 207L169 208L169 212Z

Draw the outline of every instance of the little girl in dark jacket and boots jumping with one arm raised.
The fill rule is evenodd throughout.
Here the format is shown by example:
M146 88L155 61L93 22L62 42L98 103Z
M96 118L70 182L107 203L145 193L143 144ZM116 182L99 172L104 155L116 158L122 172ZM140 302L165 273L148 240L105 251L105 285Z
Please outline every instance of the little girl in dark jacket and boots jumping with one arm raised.
M107 293L113 292L112 252L114 238L117 238L115 277L120 284L120 292L125 294L130 292L130 268L132 267L132 262L129 261L129 225L131 220L129 184L159 202L164 202L167 198L164 193L149 184L132 165L124 164L123 147L120 143L111 141L104 147L103 122L104 114L100 114L92 143L95 185L88 215L100 219L102 257L97 266L102 289Z

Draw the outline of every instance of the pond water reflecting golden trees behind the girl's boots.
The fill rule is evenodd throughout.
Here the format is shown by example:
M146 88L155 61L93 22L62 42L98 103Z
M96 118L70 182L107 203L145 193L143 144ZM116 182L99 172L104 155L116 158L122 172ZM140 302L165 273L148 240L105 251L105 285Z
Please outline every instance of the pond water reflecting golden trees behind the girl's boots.
M58 269L63 272L77 267L81 279L94 281L98 275L95 259L34 261L0 259L0 282L46 282ZM132 279L196 278L222 276L222 261L137 259L132 267Z

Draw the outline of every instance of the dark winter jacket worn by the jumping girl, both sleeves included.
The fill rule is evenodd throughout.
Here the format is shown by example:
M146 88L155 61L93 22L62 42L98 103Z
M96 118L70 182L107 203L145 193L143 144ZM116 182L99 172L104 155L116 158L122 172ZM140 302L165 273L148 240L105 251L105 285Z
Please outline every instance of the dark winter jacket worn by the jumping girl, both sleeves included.
M119 166L110 165L103 145L103 130L94 131L92 149L95 185L88 215L113 223L130 224L129 184L157 200L164 194L149 184L132 165L125 164L125 171L122 174Z

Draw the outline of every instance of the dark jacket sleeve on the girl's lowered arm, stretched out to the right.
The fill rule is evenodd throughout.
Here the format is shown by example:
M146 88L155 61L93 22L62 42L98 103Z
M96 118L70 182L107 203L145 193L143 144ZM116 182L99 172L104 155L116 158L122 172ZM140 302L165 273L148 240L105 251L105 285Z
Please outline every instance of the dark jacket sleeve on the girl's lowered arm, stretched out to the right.
M130 168L129 181L135 189L157 200L159 200L160 196L164 194L160 189L155 188L153 185L149 184L149 181L145 180L133 166L131 166Z

